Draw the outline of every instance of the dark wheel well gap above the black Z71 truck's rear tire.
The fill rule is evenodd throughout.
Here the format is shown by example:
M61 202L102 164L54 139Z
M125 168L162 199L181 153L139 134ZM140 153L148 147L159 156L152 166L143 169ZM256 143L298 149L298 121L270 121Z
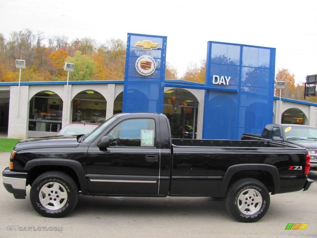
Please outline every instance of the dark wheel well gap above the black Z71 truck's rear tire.
M274 192L274 182L272 175L263 170L242 170L236 172L230 179L228 184L228 188L231 186L232 183L236 182L238 179L242 178L253 178L260 182L262 182L269 192Z

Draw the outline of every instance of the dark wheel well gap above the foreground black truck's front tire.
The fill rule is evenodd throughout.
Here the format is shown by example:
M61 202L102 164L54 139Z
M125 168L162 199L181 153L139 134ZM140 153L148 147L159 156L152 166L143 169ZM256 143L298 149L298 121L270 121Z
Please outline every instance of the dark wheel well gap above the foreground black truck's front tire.
M41 165L41 166L35 166L28 172L28 175L26 177L26 184L32 186L32 183L34 180L41 174L48 172L48 171L61 171L65 174L68 174L71 176L75 183L77 184L78 190L81 190L81 186L79 183L78 176L74 169L69 168L67 166L61 166L61 165Z

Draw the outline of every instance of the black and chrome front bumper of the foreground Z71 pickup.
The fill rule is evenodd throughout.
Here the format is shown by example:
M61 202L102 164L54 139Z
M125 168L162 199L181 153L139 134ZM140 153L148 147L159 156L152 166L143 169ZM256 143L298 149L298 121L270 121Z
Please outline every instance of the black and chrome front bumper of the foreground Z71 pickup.
M3 186L16 199L25 199L27 173L10 171L9 167L2 172Z

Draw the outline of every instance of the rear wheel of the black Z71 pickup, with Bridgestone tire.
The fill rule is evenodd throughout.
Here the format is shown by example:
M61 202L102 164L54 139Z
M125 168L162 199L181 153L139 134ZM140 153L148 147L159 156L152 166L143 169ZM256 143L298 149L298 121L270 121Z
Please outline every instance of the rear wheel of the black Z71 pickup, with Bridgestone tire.
M265 185L251 178L233 183L227 191L226 207L236 220L254 222L268 211L270 195Z

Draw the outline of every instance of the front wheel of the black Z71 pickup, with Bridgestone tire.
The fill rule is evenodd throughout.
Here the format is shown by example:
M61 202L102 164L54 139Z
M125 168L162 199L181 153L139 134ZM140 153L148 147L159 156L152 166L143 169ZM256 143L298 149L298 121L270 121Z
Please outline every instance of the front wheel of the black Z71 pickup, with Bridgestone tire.
M78 188L66 173L49 171L38 176L30 190L33 208L45 217L63 217L78 202Z

